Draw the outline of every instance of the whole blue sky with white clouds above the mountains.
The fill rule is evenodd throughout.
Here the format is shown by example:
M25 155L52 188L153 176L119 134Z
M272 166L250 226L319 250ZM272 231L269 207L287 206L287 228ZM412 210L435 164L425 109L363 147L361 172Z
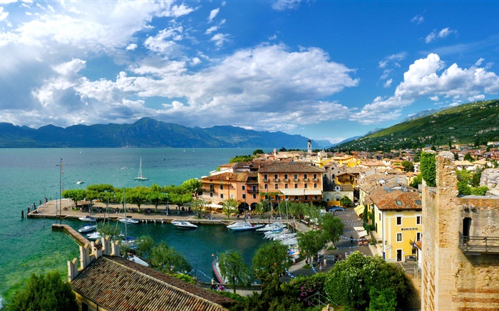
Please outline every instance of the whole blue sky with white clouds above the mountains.
M499 98L499 1L0 0L0 122L331 143Z

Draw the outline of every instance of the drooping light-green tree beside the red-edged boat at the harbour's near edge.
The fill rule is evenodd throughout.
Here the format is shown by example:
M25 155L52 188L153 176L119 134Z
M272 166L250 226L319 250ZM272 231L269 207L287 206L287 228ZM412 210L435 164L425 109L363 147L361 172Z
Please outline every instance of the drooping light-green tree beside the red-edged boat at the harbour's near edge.
M249 268L239 251L227 251L220 254L218 266L222 278L227 279L227 284L234 290L234 293L237 285L247 286L251 283Z

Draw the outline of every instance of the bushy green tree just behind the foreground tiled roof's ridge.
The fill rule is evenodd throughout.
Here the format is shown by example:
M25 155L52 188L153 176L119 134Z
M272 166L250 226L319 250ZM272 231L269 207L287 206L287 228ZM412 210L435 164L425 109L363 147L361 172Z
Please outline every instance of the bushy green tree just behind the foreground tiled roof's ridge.
M176 271L187 273L192 269L185 257L173 248L168 247L166 243L159 243L151 249L150 266L162 273L170 274Z

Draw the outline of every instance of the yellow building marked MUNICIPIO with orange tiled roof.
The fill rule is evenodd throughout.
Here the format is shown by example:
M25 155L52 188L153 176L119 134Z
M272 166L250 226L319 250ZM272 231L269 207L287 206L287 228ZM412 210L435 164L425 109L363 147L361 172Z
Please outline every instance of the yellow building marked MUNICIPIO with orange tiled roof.
M376 248L386 261L416 256L415 241L421 241L421 194L410 188L380 187L364 198L374 222ZM371 216L371 217L372 217ZM381 242L380 242L381 241Z

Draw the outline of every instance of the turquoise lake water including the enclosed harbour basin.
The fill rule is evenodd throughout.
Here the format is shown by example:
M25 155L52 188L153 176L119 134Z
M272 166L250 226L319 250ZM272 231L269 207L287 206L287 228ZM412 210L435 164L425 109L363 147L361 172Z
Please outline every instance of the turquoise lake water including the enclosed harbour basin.
M67 274L67 260L78 258L78 246L71 238L51 231L55 219L21 219L21 210L43 197L56 199L59 180L63 189L85 189L90 184L116 187L160 186L206 176L235 155L254 149L0 149L0 309L32 273L58 270ZM135 181L142 157L143 175ZM63 159L63 174L58 164ZM128 169L122 169L127 167ZM77 185L79 179L84 184ZM81 221L63 220L73 228ZM120 224L120 226L123 226ZM123 227L124 230L124 227ZM182 231L167 223L128 226L129 236L149 234L180 251L192 266L212 275L212 253L237 249L250 263L263 243L256 232L232 232L224 226L199 226ZM201 275L197 275L200 277Z

